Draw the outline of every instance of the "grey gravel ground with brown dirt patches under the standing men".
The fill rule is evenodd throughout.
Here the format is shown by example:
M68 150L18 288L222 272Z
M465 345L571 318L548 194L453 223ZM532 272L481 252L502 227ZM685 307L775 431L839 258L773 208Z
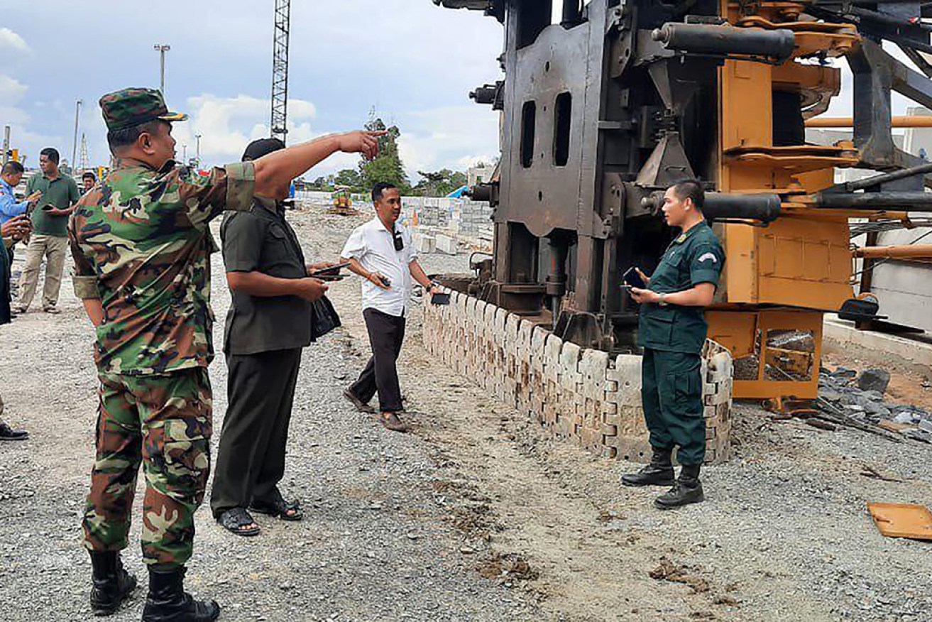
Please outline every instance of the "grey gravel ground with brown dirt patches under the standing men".
M326 258L362 219L312 208L293 222L307 255ZM465 261L424 257L432 271ZM220 601L223 619L932 620L932 546L882 537L865 506L932 505L932 447L771 422L739 405L737 455L706 468L708 501L662 513L657 491L618 485L636 465L547 439L436 365L418 308L402 358L414 434L382 431L340 397L367 351L358 285L336 284L331 297L345 325L305 351L283 482L308 518L259 517L263 534L245 540L199 512L188 586ZM89 613L79 516L96 384L89 325L70 294L62 307L0 332L7 419L32 433L0 445L4 620ZM211 372L219 430L222 357ZM901 481L864 477L864 465ZM126 560L142 574L138 530L132 538ZM138 619L143 596L112 619Z

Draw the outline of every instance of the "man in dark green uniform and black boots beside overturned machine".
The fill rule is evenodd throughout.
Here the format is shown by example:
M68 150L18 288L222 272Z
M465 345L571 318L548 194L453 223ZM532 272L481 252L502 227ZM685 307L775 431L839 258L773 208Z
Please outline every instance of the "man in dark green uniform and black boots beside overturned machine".
M626 486L672 486L654 501L661 509L705 499L699 481L706 457L700 355L708 330L704 310L712 303L725 263L719 239L702 214L705 198L703 187L692 180L666 190L666 224L682 232L650 278L641 272L649 288L631 289L631 297L640 304L641 400L653 455L650 464L622 477L622 482ZM682 464L676 480L674 448Z

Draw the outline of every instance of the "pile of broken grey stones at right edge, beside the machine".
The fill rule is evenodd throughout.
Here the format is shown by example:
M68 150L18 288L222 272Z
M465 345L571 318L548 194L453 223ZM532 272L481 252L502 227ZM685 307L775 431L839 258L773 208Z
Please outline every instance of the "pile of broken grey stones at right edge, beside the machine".
M838 367L819 370L819 406L833 414L843 413L861 423L892 422L883 427L907 438L932 444L932 413L908 404L893 404L884 399L890 374L884 369L857 370Z

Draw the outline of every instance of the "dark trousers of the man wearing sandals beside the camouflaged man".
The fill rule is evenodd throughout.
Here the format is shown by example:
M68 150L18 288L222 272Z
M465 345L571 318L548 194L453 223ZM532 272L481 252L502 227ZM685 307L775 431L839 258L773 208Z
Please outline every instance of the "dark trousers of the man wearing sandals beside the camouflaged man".
M228 405L211 492L215 518L277 498L301 349L227 354L226 366Z

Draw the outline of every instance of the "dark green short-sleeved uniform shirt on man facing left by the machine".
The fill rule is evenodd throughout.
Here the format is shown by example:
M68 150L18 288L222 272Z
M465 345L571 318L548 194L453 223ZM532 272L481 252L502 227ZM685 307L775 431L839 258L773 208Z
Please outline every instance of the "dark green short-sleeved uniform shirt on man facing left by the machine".
M703 221L670 242L650 288L658 294L692 289L699 283L718 286L725 253L712 228ZM701 307L643 304L637 325L637 343L643 348L699 354L706 342L706 314Z

